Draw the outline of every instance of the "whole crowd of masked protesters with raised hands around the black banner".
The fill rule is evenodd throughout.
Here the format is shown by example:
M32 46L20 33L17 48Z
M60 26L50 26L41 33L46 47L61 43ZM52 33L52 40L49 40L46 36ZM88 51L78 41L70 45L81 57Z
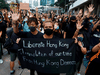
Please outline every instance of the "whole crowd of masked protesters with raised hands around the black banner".
M38 13L38 8L35 14L30 10L8 13L6 9L2 9L0 12L0 65L3 63L3 46L8 38L12 39L13 43L6 48L11 59L10 75L15 73L14 61L21 38L75 39L77 75L81 75L82 63L86 67L85 75L100 75L100 20L98 16L92 14L93 10L92 4L88 6L88 11L83 13L81 9L74 15L71 13L56 15L53 11L49 14ZM21 68L20 61L18 63ZM34 75L34 71L30 70L30 75ZM59 75L37 73L38 75Z

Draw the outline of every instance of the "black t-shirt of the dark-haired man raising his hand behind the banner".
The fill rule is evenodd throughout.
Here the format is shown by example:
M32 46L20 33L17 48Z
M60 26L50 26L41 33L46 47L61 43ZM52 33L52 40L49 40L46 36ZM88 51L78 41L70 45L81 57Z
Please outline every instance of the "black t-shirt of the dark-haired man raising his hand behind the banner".
M19 33L16 34L20 38L42 38L43 33L39 32L36 35L33 35L31 32L22 32L19 31Z

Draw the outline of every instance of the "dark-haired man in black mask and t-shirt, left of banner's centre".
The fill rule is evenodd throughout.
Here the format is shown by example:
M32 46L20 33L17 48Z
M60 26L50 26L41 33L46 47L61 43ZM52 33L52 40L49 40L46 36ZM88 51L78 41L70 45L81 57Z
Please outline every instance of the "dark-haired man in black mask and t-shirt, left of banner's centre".
M42 33L37 31L37 29L36 29L37 25L38 25L37 19L36 18L30 18L28 20L28 26L29 26L30 32L21 32L19 30L14 31L14 32L18 36L23 37L23 38L35 38L35 37L38 38L38 35L41 36ZM14 28L16 28L16 26Z

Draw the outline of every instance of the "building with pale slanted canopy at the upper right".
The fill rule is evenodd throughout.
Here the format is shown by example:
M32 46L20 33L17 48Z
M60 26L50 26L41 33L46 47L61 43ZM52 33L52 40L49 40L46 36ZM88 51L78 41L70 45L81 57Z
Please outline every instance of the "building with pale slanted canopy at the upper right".
M71 4L69 11L72 11L72 14L74 14L75 12L79 12L80 9L83 9L83 12L85 12L88 10L87 6L90 4L93 4L95 7L93 13L100 17L100 0L77 0Z

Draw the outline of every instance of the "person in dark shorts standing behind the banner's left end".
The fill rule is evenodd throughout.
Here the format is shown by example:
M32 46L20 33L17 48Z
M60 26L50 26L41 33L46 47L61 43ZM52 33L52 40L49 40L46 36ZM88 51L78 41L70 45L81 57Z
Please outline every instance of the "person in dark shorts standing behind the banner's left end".
M20 25L18 26L18 29L21 31ZM11 39L13 41L13 45L10 48L8 48L8 51L10 51L10 75L13 75L15 73L15 70L14 70L15 60L16 60L16 57L18 56L17 50L19 48L18 44L16 43L16 40L19 37L16 34L14 34L13 28L9 32L10 32ZM18 60L18 64L19 64L19 69L20 69L21 65L20 65L19 60Z

